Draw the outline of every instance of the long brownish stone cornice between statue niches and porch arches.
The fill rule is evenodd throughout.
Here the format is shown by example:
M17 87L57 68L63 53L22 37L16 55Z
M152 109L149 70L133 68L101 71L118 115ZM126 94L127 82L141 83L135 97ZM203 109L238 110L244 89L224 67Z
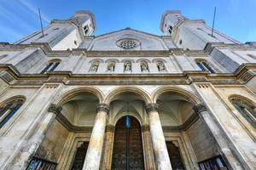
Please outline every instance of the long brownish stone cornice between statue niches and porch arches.
M255 64L241 65L234 74L211 74L204 71L184 71L175 74L73 74L55 71L47 74L20 74L13 65L0 65L0 77L11 86L41 86L44 83L66 85L189 85L211 82L213 85L243 85L256 75Z

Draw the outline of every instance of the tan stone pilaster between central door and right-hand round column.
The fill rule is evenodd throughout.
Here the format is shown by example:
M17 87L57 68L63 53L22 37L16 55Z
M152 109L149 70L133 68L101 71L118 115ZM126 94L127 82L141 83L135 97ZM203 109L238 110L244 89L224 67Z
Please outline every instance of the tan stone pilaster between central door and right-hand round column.
M155 170L154 150L152 147L152 139L150 137L150 129L148 124L143 125L142 132L143 132L143 150L144 150L145 169Z

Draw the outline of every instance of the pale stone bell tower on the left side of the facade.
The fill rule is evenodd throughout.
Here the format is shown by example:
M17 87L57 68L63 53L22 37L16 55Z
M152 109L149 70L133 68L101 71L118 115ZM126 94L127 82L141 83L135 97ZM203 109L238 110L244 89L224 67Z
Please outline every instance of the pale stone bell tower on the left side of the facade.
M52 20L49 26L44 27L44 37L41 31L36 31L15 44L47 42L52 50L78 48L84 37L95 31L95 26L94 14L90 11L78 11L67 20Z

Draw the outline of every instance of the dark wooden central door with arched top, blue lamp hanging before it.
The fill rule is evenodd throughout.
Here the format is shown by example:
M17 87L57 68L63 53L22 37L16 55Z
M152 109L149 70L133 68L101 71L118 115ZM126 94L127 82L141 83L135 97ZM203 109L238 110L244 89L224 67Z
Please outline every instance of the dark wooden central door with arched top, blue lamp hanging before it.
M144 169L141 126L132 116L125 116L116 124L112 169Z

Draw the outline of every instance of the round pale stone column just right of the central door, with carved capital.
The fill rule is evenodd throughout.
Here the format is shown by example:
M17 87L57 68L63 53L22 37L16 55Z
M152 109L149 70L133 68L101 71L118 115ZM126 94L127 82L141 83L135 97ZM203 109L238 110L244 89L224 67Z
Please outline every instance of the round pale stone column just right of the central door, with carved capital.
M150 133L153 142L155 165L157 170L172 170L158 110L159 108L157 104L146 105L146 111L149 116Z

